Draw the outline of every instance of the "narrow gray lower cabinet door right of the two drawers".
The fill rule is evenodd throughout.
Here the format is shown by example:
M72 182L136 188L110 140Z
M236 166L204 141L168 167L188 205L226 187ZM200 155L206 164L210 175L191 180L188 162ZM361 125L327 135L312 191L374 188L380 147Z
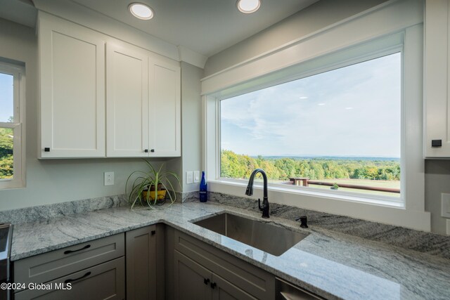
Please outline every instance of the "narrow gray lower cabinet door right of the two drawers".
M127 300L164 299L163 226L156 224L125 233Z

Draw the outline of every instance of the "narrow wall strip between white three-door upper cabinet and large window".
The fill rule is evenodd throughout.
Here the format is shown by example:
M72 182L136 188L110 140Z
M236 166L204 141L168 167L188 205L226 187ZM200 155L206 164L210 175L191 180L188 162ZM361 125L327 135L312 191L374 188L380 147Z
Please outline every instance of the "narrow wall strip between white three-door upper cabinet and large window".
M199 183L186 183L186 171L201 171L202 77L203 69L181 62L181 157L171 159L167 169L179 174L184 193L199 190L200 187Z

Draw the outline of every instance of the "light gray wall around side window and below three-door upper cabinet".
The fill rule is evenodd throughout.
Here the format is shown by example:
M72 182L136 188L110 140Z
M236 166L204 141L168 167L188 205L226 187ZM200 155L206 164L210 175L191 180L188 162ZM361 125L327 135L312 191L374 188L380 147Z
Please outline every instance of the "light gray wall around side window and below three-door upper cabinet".
M37 159L37 37L30 27L0 19L0 41L0 59L25 63L27 76L27 186L0 190L0 210L123 194L129 174L145 169L141 159ZM115 185L103 185L104 171L115 172Z

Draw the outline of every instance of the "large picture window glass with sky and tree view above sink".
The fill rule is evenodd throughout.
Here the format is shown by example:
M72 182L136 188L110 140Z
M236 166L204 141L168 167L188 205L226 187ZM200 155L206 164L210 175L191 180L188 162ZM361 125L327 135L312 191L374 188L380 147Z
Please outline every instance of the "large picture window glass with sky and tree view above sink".
M220 102L220 176L399 198L401 52Z

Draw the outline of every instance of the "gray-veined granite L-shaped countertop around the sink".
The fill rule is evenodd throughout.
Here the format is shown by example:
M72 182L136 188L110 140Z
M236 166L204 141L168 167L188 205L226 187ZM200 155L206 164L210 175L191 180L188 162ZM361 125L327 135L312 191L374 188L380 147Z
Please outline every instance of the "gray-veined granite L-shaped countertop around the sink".
M231 240L192 221L223 211L309 233L281 256ZM117 207L14 226L11 260L127 230L165 223L327 299L450 299L450 260L223 204L165 209Z

